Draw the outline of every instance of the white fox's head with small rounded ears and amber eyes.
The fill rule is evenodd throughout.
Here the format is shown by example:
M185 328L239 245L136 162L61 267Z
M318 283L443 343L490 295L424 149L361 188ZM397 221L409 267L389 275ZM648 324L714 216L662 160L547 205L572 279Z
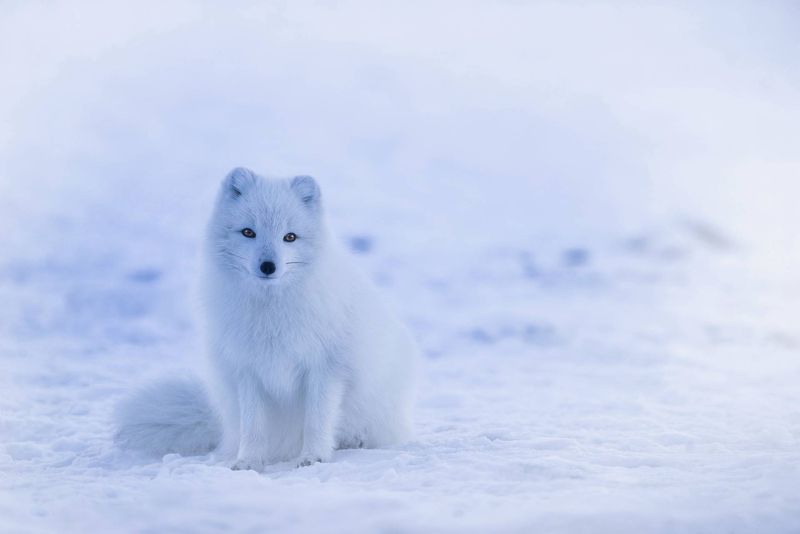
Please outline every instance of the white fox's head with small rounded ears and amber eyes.
M217 267L259 284L287 283L314 266L325 238L310 176L267 179L239 167L222 181L209 224Z

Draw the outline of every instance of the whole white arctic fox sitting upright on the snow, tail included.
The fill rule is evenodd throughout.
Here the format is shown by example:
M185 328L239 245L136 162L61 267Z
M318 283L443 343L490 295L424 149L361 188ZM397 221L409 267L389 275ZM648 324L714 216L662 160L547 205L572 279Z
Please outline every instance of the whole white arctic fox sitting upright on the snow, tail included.
M313 178L231 171L205 255L211 395L189 379L137 392L117 443L261 470L408 437L416 346L331 236Z

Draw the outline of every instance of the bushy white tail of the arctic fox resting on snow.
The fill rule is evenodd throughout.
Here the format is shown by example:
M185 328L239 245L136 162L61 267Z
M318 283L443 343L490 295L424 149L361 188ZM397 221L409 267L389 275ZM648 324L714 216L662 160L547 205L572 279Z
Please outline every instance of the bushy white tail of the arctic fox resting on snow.
M206 454L220 442L222 428L203 384L170 378L124 399L115 413L114 442L153 456Z

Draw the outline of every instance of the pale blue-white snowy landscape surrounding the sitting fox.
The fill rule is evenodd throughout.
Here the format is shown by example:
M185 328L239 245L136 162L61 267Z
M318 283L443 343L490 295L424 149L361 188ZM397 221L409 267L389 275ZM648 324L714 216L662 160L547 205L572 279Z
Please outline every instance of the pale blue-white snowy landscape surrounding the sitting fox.
M10 3L0 531L800 530L791 3ZM312 174L425 354L416 436L136 457L219 179Z

